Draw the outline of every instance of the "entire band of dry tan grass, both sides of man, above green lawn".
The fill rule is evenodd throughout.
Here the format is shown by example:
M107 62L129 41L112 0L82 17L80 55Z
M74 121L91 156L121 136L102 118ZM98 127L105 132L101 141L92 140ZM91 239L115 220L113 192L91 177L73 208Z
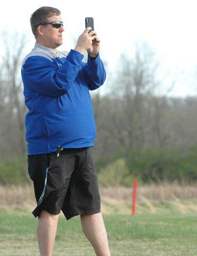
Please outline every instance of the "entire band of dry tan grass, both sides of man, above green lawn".
M101 211L104 214L131 214L132 187L100 187ZM138 186L136 209L139 213L159 213L167 209L179 213L197 212L197 185L160 183ZM161 204L167 203L162 208ZM32 185L0 186L0 207L28 207L35 209Z

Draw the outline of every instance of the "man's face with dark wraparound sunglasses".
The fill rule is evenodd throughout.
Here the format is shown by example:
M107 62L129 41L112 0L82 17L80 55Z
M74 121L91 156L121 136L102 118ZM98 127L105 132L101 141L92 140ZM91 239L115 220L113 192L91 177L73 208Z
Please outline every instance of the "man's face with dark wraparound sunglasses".
M61 16L52 16L48 22L62 21ZM54 28L52 24L42 26L42 39L46 42L47 47L56 49L58 46L63 44L62 32L64 31L63 26L60 28Z

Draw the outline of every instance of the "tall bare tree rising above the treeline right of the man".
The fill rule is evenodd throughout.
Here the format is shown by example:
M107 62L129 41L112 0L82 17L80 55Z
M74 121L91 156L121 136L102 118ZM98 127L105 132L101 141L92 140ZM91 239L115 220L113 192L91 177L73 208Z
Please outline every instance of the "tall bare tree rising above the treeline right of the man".
M122 54L119 61L112 95L116 101L112 113L111 130L122 147L143 147L146 119L149 115L148 100L152 97L158 63L148 45L137 47L134 57Z

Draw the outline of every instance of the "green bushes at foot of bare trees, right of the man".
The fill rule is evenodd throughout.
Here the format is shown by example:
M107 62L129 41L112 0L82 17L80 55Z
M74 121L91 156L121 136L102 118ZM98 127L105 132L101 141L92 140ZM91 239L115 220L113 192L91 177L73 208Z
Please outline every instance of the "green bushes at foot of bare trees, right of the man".
M98 178L105 186L132 186L133 180L138 183L196 183L197 181L197 147L183 153L174 149L131 149L120 150L116 155L102 159L102 167L98 159Z

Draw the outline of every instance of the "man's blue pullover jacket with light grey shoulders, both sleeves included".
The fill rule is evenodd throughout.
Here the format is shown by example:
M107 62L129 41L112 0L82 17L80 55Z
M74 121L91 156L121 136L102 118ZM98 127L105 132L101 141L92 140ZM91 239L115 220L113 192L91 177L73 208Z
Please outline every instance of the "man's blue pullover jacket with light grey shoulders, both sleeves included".
M28 155L62 148L92 147L96 125L89 90L106 78L99 54L95 60L78 51L57 52L36 43L24 58L25 139Z

